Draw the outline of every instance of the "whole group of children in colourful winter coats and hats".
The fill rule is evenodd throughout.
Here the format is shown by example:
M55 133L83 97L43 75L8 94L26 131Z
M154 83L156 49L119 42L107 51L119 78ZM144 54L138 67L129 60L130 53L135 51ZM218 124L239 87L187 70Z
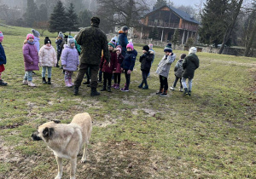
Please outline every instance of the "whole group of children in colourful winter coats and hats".
M23 46L24 64L25 64L25 76L23 84L34 87L32 83L32 72L38 71L39 66L42 67L42 81L44 84L51 84L51 71L52 67L59 67L58 62L61 59L61 67L65 71L65 84L67 87L72 87L73 72L78 70L79 66L79 47L76 45L76 41L73 37L67 38L67 44L65 44L64 35L60 32L56 39L56 49L51 45L51 41L48 37L44 39L44 46L39 45L39 32L32 29L32 33L27 34L26 40ZM0 85L7 85L3 82L1 77L4 71L4 64L6 64L6 56L2 46L3 33L0 32ZM125 73L125 86L121 88L121 91L128 92L131 83L131 72L135 66L137 58L137 50L134 49L132 41L126 46L125 56L122 55L122 46L117 45L114 39L108 43L108 50L110 52L110 63L108 63L104 56L100 64L99 71L103 73L103 85L101 91L111 92L111 88L115 90L120 89L121 73ZM172 63L176 59L176 55L172 52L172 44L168 43L164 49L165 55L160 61L156 73L160 78L160 90L156 95L166 96L168 91L168 81L170 68ZM196 48L189 49L189 55L181 55L179 61L174 68L176 79L170 88L174 90L177 82L180 81L180 91L184 95L191 95L192 79L194 78L195 69L199 67L198 57L195 55ZM148 81L150 68L154 61L153 44L143 46L143 55L140 56L139 62L141 63L142 71L142 83L138 85L139 89L148 90ZM48 72L48 81L46 81L45 73ZM186 79L189 78L189 89L187 89ZM114 81L113 85L112 80Z

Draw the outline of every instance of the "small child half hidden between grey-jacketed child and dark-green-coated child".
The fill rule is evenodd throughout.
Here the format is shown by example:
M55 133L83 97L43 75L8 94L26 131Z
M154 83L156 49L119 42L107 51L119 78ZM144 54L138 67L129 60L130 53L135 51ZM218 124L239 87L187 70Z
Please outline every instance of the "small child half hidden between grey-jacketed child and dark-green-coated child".
M183 84L181 82L181 79L182 79L182 76L183 76L183 60L184 60L185 57L186 57L185 54L181 55L180 56L180 60L177 61L176 65L174 67L174 72L175 72L175 77L176 78L175 78L175 81L174 81L172 87L170 87L170 90L174 90L175 89L177 81L179 80L179 82L180 82L180 89L179 89L179 91L183 92Z

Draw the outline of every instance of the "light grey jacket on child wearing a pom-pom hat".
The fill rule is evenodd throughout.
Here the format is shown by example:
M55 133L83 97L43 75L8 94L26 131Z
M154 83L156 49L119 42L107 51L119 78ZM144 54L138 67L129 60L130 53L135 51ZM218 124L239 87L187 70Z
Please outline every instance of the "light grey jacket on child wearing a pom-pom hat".
M172 54L171 56L164 55L164 57L158 64L156 73L159 74L160 76L168 78L171 65L172 65L173 61L175 61L175 58L176 58L175 54Z

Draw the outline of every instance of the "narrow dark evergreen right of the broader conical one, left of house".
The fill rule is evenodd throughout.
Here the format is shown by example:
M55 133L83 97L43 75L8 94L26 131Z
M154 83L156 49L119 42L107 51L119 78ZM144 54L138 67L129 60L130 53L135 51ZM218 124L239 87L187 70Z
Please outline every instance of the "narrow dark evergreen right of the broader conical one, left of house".
M69 8L67 9L67 27L69 35L72 31L79 31L79 17L78 14L74 11L73 3L70 3Z

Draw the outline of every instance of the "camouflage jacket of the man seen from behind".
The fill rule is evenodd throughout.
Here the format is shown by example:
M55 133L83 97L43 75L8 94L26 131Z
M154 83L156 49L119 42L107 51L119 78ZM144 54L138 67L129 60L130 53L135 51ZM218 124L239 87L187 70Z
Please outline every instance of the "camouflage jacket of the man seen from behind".
M92 24L82 29L76 41L82 47L81 63L100 65L102 50L106 61L109 61L107 36L98 25Z

